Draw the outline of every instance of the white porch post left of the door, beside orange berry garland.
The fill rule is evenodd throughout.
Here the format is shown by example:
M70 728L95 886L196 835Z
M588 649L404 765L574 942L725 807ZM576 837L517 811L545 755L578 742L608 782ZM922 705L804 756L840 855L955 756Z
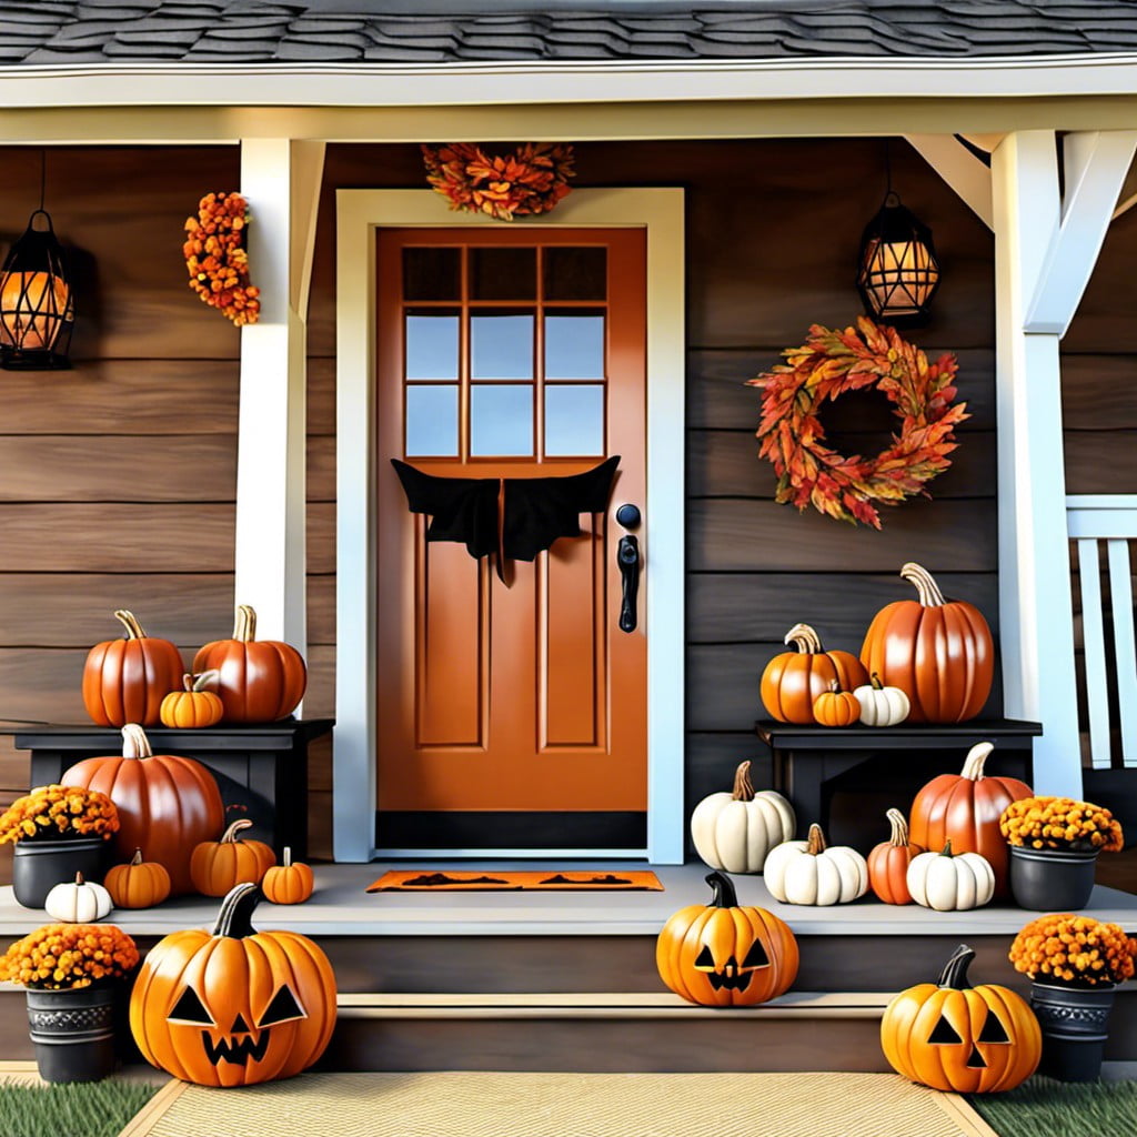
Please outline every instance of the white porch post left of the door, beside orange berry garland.
M241 143L249 268L260 319L241 329L234 599L257 637L307 653L306 312L322 142Z

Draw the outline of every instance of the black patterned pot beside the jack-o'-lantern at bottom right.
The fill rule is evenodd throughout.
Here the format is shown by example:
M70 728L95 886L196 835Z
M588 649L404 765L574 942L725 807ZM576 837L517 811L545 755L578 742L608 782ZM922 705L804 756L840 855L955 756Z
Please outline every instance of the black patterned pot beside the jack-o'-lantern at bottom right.
M1038 1072L1059 1081L1095 1081L1101 1077L1113 985L1077 990L1031 984L1030 1005L1043 1031Z

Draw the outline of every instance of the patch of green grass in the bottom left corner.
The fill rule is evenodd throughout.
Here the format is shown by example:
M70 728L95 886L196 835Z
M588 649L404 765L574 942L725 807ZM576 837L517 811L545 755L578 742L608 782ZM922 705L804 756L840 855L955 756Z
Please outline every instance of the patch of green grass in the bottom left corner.
M133 1081L0 1084L3 1137L117 1137L158 1087Z

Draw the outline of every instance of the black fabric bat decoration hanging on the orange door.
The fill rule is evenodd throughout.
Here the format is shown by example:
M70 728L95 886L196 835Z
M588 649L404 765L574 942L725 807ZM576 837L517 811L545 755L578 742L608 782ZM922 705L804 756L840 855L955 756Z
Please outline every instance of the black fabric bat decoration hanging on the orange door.
M428 541L460 541L472 557L532 561L558 537L580 537L580 515L608 507L620 464L613 455L579 474L553 478L439 478L391 459L412 513L430 516ZM501 500L500 524L498 499Z

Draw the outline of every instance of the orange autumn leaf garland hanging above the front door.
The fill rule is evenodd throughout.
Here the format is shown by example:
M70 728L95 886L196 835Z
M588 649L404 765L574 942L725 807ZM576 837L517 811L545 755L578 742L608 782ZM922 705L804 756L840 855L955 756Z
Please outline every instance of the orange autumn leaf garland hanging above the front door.
M423 146L426 181L451 209L513 221L548 213L570 192L574 175L568 143L525 142L512 153L489 155L472 142Z

